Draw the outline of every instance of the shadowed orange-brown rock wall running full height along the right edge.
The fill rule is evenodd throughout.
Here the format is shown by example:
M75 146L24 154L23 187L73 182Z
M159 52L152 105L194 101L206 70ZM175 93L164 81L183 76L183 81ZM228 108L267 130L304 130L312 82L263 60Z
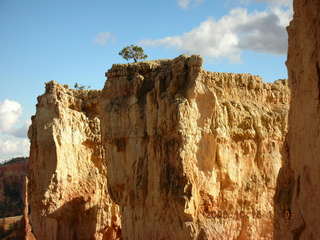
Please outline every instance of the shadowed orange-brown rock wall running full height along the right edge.
M295 0L288 28L288 160L278 177L275 239L320 238L320 1Z

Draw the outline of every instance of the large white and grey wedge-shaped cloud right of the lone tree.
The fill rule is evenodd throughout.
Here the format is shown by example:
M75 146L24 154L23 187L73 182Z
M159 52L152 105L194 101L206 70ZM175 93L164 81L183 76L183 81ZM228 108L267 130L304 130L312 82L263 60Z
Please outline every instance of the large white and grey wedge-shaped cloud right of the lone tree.
M290 9L275 7L248 13L233 9L219 20L209 18L189 32L162 39L143 40L145 46L172 47L190 54L239 61L243 50L285 54Z

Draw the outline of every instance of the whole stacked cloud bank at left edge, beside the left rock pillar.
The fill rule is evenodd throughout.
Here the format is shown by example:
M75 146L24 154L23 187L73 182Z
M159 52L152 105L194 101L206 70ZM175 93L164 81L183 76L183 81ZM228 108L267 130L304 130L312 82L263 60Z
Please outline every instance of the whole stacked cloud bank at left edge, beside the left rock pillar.
M21 124L21 114L20 103L9 99L0 102L0 162L29 155L27 130L30 121Z

